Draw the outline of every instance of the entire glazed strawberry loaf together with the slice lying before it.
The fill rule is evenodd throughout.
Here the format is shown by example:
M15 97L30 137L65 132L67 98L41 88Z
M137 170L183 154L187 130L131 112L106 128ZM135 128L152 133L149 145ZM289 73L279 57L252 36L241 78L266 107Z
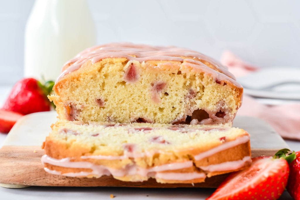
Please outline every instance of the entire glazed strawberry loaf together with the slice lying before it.
M243 88L199 52L92 47L64 65L53 90L58 121L42 162L54 175L199 183L251 163L249 134L231 127Z

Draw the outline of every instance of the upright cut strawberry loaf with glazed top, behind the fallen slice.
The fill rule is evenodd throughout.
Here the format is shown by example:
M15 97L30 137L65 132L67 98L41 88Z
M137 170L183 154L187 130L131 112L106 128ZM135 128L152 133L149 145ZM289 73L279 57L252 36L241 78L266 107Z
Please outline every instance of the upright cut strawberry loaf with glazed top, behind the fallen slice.
M49 99L59 118L89 122L231 123L243 88L199 52L116 43L64 66Z

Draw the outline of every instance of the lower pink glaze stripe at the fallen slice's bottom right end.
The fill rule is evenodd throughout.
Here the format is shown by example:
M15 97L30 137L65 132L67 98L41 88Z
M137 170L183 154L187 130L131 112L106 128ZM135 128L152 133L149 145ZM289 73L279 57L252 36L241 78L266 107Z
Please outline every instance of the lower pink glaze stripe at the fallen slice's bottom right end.
M199 166L200 169L208 172L221 172L229 171L241 168L246 165L246 163L251 163L252 160L250 156L245 156L242 160L228 161L224 163L219 163L215 165Z

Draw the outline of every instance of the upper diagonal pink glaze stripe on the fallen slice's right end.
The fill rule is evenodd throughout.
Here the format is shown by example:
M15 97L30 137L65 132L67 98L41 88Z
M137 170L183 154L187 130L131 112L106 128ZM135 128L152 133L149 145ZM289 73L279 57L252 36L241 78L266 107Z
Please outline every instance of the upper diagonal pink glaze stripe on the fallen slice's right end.
M214 155L220 151L232 148L232 147L240 145L240 144L244 144L244 143L248 142L249 140L250 140L250 136L238 137L235 140L232 140L229 142L223 142L221 145L216 146L215 148L212 148L212 149L209 149L208 151L197 154L194 156L194 158L195 158L195 160L202 160L203 158Z

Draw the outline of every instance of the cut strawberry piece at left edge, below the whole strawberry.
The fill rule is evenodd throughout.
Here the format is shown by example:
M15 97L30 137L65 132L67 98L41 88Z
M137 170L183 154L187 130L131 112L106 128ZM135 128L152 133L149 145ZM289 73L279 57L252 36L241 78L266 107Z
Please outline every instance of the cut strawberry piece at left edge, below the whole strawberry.
M16 121L22 116L23 115L16 112L0 110L0 133L8 133Z

